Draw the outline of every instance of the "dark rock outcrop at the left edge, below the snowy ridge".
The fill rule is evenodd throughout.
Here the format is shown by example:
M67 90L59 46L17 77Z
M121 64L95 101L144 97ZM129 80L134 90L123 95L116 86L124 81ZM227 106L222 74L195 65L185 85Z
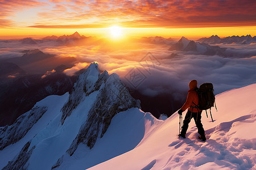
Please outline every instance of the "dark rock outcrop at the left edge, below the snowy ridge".
M0 128L0 150L22 139L46 111L47 107L32 108L30 112L22 114L13 125Z

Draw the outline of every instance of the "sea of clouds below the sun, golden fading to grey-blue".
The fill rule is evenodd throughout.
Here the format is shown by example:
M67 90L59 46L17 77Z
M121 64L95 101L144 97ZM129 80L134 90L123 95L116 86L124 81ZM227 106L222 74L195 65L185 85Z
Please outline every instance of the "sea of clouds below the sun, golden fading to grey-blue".
M68 75L96 61L100 70L117 73L130 89L150 97L170 94L174 100L184 100L192 79L199 85L212 82L215 94L256 83L256 44L219 44L235 54L227 58L174 52L168 50L168 45L142 42L86 46L15 43L0 42L0 59L22 56L19 51L35 48L56 57L76 57L77 63L64 71ZM172 53L177 55L171 56Z

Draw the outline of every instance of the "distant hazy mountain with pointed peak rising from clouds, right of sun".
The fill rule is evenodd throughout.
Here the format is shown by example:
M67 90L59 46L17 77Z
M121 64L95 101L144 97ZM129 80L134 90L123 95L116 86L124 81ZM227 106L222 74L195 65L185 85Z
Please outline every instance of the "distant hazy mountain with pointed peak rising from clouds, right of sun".
M209 56L227 56L227 54L225 54L226 48L220 48L220 46L211 46L205 44L204 42L195 42L193 40L188 40L185 37L181 37L181 39L176 44L172 44L169 50L192 52L194 54L203 54Z

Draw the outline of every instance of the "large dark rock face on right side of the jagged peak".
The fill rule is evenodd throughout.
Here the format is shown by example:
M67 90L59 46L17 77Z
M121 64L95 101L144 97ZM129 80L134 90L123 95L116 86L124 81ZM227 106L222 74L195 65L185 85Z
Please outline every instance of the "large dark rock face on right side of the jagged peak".
M80 143L92 148L97 138L103 137L115 114L135 107L140 107L138 101L130 96L119 76L110 75L104 87L100 89L96 103L90 109L88 119L80 128L68 154L72 155Z

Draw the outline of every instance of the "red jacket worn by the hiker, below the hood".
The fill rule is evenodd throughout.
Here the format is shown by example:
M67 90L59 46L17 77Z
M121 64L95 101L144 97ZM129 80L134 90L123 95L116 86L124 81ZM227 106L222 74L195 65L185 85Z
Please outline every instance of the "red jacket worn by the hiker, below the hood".
M197 88L197 87L195 87ZM190 90L188 90L188 96L187 96L187 100L184 103L183 107L181 107L181 110L184 112L187 108L189 111L191 112L200 112L201 110L197 108L192 108L191 106L195 106L199 104L199 99L198 99L198 95L197 92L195 91L195 88L191 88ZM195 104L194 104L195 103Z

